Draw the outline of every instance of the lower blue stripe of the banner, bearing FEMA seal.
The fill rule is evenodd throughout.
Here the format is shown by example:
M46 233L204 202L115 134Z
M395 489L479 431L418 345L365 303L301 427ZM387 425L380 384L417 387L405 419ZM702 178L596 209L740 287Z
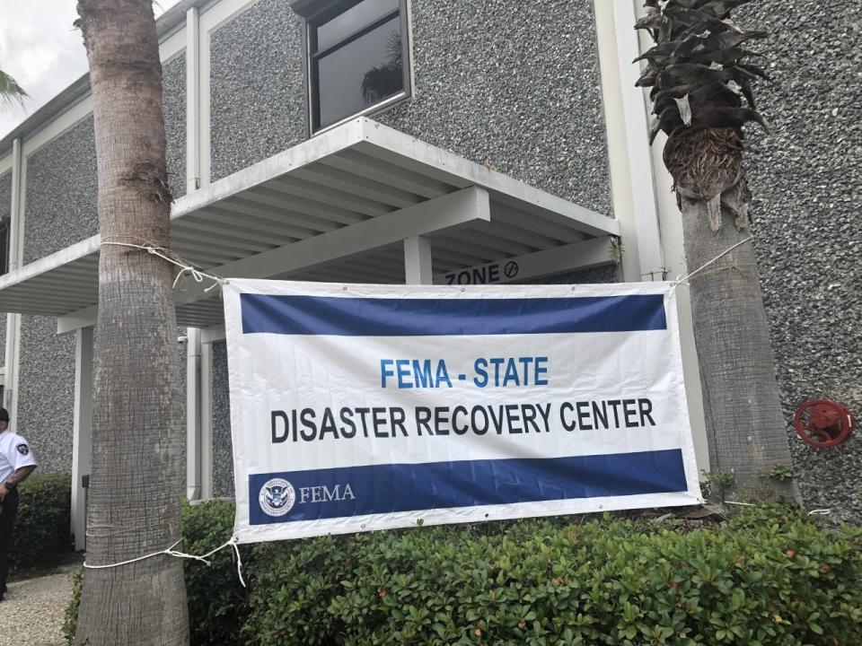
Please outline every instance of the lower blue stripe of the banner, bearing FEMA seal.
M292 487L292 502L285 491L291 491L290 487L278 479ZM251 525L683 491L685 467L680 449L573 458L339 467L249 476ZM282 515L275 515L278 513Z

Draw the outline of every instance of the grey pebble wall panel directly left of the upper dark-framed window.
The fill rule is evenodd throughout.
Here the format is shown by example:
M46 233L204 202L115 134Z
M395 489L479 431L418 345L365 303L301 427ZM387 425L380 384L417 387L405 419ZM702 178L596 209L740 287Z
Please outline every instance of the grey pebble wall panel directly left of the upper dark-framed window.
M305 139L302 21L286 0L260 0L210 42L210 179L216 181Z

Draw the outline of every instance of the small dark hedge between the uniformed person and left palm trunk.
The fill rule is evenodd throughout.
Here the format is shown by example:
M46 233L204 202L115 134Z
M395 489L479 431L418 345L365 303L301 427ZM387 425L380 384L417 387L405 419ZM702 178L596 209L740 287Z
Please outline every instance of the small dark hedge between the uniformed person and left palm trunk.
M49 568L72 549L72 478L35 473L18 485L21 502L15 520L13 571Z

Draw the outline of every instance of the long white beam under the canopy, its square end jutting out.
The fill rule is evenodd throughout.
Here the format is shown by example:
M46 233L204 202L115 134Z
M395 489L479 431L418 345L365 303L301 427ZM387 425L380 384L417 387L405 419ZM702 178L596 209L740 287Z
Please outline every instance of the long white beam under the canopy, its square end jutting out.
M490 219L488 191L478 187L462 188L400 211L215 267L212 273L225 278L271 278L385 247L412 236L451 231L477 220L490 222ZM208 286L206 281L189 285L187 292L177 294L177 304L201 300Z

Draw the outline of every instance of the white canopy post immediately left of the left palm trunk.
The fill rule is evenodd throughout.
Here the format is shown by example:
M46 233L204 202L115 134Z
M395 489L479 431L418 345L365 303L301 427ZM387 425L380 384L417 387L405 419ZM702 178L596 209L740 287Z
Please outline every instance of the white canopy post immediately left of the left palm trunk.
M72 533L75 549L86 549L86 492L82 476L90 476L92 458L93 327L75 330L75 418L72 436Z

